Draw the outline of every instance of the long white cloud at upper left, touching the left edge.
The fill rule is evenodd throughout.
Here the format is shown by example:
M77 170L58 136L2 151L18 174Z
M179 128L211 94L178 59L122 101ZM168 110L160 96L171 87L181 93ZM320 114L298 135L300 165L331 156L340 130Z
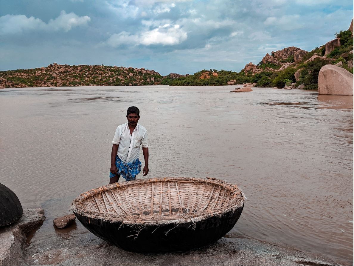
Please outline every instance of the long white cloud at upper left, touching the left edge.
M54 20L48 23L39 18L26 17L25 15L5 15L0 17L0 34L16 34L27 31L70 31L71 28L86 25L91 19L88 16L79 17L71 12L67 14L64 10Z

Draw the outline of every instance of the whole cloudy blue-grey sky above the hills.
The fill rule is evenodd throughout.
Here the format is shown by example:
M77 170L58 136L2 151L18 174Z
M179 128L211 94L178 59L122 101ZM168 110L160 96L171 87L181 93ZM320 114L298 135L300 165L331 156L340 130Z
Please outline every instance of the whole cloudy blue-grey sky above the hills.
M0 70L240 71L267 52L325 44L352 17L352 0L0 0Z

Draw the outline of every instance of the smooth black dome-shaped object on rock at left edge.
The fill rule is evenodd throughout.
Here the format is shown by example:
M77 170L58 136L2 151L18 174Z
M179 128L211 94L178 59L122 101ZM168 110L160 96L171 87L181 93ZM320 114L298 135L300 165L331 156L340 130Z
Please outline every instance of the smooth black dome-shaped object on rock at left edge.
M16 194L0 184L0 227L11 225L23 215L22 205Z

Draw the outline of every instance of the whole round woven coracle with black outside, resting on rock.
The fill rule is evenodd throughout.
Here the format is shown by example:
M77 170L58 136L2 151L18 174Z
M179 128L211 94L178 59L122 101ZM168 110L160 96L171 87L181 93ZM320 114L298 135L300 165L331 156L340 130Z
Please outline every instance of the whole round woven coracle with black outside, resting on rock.
M236 185L216 178L164 177L92 189L70 209L90 232L124 250L185 251L229 232L244 199Z

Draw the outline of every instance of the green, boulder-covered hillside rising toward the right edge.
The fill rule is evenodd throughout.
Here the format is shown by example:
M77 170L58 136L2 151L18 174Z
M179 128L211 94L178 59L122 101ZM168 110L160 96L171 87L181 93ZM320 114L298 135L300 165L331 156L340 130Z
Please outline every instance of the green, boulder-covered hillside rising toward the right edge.
M353 20L335 39L308 52L289 46L266 54L257 64L252 62L238 73L202 70L171 82L174 86L252 84L257 87L317 89L322 66L336 65L353 73Z

